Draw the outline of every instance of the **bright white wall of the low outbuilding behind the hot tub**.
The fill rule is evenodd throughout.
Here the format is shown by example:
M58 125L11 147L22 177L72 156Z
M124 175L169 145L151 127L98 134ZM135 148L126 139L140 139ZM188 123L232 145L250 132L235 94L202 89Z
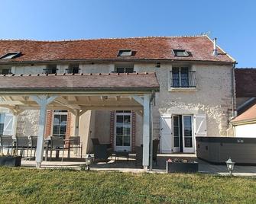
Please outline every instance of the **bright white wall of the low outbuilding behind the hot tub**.
M256 137L256 123L235 126L235 137Z

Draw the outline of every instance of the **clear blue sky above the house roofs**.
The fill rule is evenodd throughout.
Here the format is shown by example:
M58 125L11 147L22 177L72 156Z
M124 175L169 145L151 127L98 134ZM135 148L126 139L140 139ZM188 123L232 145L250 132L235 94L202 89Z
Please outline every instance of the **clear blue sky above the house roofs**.
M0 0L0 38L64 40L209 33L256 67L256 1Z

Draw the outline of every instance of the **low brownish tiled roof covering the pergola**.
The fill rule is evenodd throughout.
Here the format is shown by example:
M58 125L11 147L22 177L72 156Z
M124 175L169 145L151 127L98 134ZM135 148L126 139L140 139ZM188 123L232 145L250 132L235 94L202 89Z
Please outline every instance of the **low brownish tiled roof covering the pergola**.
M157 76L131 74L0 75L6 91L159 91Z

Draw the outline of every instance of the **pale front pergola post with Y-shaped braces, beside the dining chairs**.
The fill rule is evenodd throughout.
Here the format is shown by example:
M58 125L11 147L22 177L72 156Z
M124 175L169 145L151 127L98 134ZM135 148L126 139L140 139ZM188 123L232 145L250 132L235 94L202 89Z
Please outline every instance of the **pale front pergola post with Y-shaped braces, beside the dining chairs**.
M49 97L47 95L39 96L31 96L33 100L40 105L40 116L39 116L39 127L38 127L38 136L37 136L37 154L36 154L36 166L37 168L41 167L41 163L43 161L44 155L44 131L45 131L45 120L47 116L47 104L50 104L57 97Z

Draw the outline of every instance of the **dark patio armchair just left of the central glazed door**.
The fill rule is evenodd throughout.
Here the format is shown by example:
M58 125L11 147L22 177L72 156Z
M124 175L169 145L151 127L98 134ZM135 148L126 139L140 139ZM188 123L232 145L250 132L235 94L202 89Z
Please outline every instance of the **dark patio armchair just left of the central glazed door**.
M92 145L95 159L108 160L112 155L113 149L111 144L100 144L99 139L92 138Z

